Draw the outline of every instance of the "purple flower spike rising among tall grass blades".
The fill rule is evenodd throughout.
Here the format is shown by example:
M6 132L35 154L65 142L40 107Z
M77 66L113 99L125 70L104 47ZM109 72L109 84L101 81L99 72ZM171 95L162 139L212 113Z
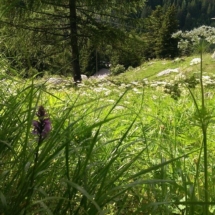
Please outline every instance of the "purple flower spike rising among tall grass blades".
M48 133L51 131L51 121L50 118L47 117L47 113L43 106L38 108L38 112L36 113L38 120L33 120L33 131L32 133L38 135L40 138L45 138Z

